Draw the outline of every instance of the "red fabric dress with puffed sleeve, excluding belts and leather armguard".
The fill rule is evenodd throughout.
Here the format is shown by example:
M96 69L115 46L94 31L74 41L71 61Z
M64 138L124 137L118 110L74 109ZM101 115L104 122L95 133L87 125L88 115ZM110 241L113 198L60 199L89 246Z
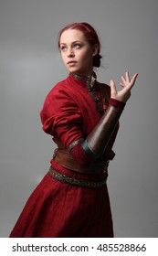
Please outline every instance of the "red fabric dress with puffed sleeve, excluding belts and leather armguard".
M105 91L110 99L110 87ZM95 90L101 103L100 88ZM71 74L48 93L40 113L43 130L65 147L86 138L100 120L85 80ZM110 145L114 143L118 127ZM51 159L60 173L79 179L99 180L104 174L88 175L68 170ZM71 186L46 175L28 198L10 237L103 238L113 237L111 206L107 186L92 189Z

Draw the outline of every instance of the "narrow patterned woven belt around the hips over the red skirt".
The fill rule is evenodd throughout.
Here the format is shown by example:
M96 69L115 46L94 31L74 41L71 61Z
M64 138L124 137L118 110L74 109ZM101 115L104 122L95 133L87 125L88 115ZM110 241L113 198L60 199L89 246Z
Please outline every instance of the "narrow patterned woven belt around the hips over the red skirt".
M52 169L51 167L48 170L48 176L62 182L70 184L71 186L78 187L87 187L87 188L100 188L106 185L107 176L105 175L104 179L99 181L91 181L91 180L83 180L73 176L66 176L64 174L59 173L57 170Z

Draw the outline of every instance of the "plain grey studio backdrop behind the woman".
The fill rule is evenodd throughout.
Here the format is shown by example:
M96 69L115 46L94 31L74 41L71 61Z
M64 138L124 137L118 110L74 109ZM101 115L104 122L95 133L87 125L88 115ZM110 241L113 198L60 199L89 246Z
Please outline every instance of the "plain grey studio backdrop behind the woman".
M46 174L54 144L39 112L68 72L58 31L89 22L99 33L100 81L139 72L121 116L108 187L116 237L157 237L157 59L155 0L0 1L0 237L7 237L27 197Z

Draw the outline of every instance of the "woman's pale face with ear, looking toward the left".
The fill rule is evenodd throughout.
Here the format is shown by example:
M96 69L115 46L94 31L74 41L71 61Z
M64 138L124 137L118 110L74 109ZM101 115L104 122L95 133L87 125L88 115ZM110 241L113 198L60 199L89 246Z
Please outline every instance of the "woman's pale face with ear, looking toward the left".
M68 29L61 34L59 47L69 72L91 75L93 56L98 52L98 45L91 47L81 31Z

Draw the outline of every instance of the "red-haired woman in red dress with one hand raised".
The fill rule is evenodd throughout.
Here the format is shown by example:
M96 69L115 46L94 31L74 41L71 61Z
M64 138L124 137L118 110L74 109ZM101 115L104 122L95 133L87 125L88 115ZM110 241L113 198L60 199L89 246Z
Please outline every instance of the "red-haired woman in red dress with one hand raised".
M48 93L40 113L57 149L50 169L27 200L10 237L113 237L107 190L121 112L137 73L121 77L121 91L97 80L100 40L87 23L58 37L68 78Z

